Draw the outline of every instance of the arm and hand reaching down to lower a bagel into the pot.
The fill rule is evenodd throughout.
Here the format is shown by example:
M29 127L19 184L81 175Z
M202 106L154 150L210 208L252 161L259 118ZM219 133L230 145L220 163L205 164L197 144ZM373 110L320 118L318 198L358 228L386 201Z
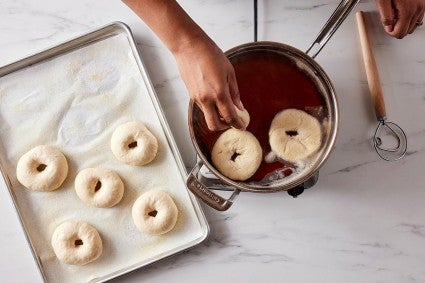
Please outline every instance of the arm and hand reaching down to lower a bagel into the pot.
M245 124L232 64L223 51L174 0L122 0L173 53L191 99L204 112L213 131Z

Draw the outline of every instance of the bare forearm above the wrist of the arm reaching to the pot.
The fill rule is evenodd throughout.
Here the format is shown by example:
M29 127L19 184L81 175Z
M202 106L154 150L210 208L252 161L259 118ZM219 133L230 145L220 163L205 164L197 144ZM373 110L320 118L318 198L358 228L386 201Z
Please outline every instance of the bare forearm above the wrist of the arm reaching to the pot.
M176 54L192 44L212 42L174 0L123 0Z

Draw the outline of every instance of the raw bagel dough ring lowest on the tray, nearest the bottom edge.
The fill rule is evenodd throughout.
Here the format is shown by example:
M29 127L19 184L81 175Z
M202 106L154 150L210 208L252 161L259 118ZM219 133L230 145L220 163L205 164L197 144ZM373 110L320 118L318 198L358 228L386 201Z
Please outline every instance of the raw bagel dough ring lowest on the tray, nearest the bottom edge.
M56 227L53 232L52 247L60 261L85 265L102 254L102 239L89 223L67 221Z

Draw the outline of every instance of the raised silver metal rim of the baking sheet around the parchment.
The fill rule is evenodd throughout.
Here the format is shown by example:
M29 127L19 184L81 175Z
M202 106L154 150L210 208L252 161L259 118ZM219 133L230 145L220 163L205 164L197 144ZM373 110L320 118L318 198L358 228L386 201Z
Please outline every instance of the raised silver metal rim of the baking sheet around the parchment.
M25 57L23 59L20 59L20 60L14 62L14 63L10 63L8 65L0 67L0 77L3 77L3 76L8 75L10 73L16 72L16 71L21 70L23 68L29 67L31 65L41 63L41 62L48 60L50 58L53 58L53 57L74 51L76 49L79 49L81 47L90 45L90 44L98 42L98 41L101 41L101 40L106 39L108 37L118 35L120 33L125 33L127 38L129 39L129 43L130 43L134 58L136 59L137 66L139 67L139 71L140 71L140 73L143 77L145 84L146 84L146 87L147 87L148 92L149 92L149 96L152 100L152 103L153 103L155 110L158 114L158 118L161 122L161 126L162 126L162 128L165 132L165 135L167 136L167 142L168 142L168 144L171 148L171 151L173 152L174 158L175 158L175 160L178 164L178 167L179 167L179 170L181 172L182 177L186 178L187 171L186 171L186 168L184 166L183 160L180 156L180 152L179 152L178 147L177 147L177 145L174 141L174 138L173 138L173 135L172 135L171 130L169 128L168 122L165 119L164 112L163 112L162 107L159 103L158 97L155 94L153 84L152 84L152 82L151 82L151 80L150 80L150 78L147 74L145 65L144 65L141 57L139 56L139 52L138 52L136 44L135 44L134 36L131 32L131 29L125 23L123 23L123 22L113 22L113 23L107 24L103 27L100 27L98 29L90 31L86 34L77 36L73 39L67 40L67 41L60 43L58 45L55 45L53 47L47 48L47 49L45 49L41 52L30 55L30 56ZM19 211L19 208L18 208L18 205L17 205L17 202L16 202L15 194L12 190L12 183L10 181L9 176L6 174L6 171L4 170L4 168L2 166L2 162L0 162L0 173L1 173L3 179L6 183L6 187L8 188L9 194L12 198L12 203L13 203L15 211L18 215L19 222L20 222L23 230L25 231L25 233L24 233L25 238L27 240L28 245L30 246L30 250L31 250L31 253L33 255L33 258L37 263L40 276L42 277L44 282L47 282L46 275L44 274L44 271L43 271L42 262L35 252L34 245L33 245L32 241L29 237L29 234L28 234L28 229L27 229L27 227L25 226L25 224L22 220L23 218L22 218L22 215ZM191 202L192 202L192 204L195 208L195 212L198 216L198 220L200 222L200 225L201 225L201 227L203 228L203 231L204 231L203 235L199 239L197 239L193 243L188 243L188 244L184 245L183 247L176 250L175 252L172 252L171 254L160 255L158 258L154 258L154 259L144 263L143 265L131 266L128 269L118 271L116 273L111 274L110 276L94 279L94 280L100 279L100 281L92 280L91 282L105 282L105 281L111 280L113 278L122 276L124 274L132 272L132 271L139 269L141 267L150 265L150 264L157 262L159 260L162 260L162 259L171 257L173 255L179 254L181 252L184 252L184 251L188 250L189 248L193 248L193 247L201 244L202 242L204 242L210 234L210 226L209 226L208 222L206 221L205 214L204 214L197 198L190 191L188 191L188 193L189 193L189 196L190 196L190 200L191 200Z

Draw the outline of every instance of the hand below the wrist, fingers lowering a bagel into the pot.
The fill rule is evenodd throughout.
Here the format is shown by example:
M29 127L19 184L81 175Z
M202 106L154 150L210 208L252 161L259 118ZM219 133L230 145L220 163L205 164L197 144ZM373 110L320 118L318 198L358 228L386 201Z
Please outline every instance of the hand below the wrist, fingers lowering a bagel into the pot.
M204 113L211 131L244 128L235 106L243 110L235 71L211 40L200 40L174 54L190 97Z

